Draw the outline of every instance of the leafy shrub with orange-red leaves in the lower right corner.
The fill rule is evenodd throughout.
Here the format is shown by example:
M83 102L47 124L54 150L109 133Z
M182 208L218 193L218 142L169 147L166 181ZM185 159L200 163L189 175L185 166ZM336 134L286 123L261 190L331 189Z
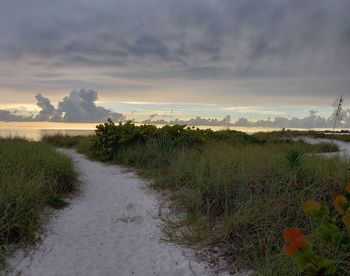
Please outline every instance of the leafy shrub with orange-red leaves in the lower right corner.
M316 222L313 234L316 241L328 249L327 257L314 253L313 246L305 240L300 230L286 229L284 232L288 242L286 254L292 256L300 270L307 275L345 275L350 270L350 182L345 192L347 196L335 197L333 210L326 203L314 200L307 200L303 204L304 214ZM294 244L291 245L288 235L293 231L298 231L302 238L293 237ZM297 243L303 244L296 246Z

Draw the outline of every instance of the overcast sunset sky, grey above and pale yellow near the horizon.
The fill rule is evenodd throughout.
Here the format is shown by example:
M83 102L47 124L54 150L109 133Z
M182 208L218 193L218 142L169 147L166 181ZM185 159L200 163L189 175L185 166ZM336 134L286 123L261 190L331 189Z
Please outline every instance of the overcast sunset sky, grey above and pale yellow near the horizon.
M37 114L41 95L37 120L72 103L66 120L329 116L350 96L349 14L349 0L1 0L0 111Z

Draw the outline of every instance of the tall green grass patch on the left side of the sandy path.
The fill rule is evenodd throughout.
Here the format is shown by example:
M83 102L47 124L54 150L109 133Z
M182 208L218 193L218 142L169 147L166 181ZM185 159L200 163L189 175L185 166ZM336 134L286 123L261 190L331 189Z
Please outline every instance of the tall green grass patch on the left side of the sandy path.
M0 259L10 243L34 240L45 206L60 208L75 188L72 161L42 142L0 139Z

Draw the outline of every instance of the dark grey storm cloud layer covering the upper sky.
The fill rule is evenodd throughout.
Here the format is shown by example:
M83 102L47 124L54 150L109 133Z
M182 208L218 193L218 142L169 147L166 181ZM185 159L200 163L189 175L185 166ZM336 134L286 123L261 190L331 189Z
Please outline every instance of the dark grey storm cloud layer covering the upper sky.
M0 68L9 66L13 76L26 76L28 68L38 74L83 68L190 89L189 82L205 81L223 101L244 91L238 84L230 89L232 80L267 83L266 89L251 85L244 91L250 97L288 96L294 88L300 97L333 97L350 85L349 12L348 0L5 0ZM61 81L53 79L52 87ZM89 80L81 75L76 81ZM95 87L123 93L111 92L118 84L99 80ZM192 91L200 101L202 91Z

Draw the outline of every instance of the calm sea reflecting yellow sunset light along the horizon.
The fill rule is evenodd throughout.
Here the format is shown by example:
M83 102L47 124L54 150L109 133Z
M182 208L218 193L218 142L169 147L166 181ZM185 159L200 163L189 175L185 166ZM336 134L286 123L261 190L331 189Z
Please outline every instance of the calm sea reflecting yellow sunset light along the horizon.
M89 135L94 134L96 123L54 123L54 122L0 122L0 137L20 136L39 141L44 135L68 134ZM211 128L221 130L224 127L199 126L199 128ZM270 132L281 130L280 128L268 127L230 127L230 129L246 133ZM306 130L306 129L295 129ZM315 129L325 130L325 129Z

